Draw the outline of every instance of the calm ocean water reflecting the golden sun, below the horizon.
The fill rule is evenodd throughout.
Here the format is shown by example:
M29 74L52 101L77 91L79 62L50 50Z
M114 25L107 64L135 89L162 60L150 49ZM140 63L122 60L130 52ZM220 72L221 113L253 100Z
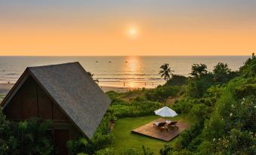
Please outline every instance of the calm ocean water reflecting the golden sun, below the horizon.
M169 63L174 74L189 76L191 65L204 63L212 71L218 62L233 71L249 56L0 56L0 83L15 83L28 66L80 62L105 87L153 88L165 81L159 67Z

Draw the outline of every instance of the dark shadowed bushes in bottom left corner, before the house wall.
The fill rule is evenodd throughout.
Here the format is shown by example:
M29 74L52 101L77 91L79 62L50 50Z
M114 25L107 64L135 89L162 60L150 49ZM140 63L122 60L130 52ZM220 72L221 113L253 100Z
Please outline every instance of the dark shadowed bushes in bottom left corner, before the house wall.
M0 154L51 154L53 146L47 129L49 121L38 118L11 122L0 111Z

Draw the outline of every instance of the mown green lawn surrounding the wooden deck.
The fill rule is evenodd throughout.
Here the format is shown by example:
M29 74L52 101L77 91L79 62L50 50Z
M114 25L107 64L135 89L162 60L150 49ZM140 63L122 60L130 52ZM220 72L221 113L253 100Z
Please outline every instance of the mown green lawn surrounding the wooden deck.
M116 121L113 133L115 135L114 150L116 154L120 154L122 150L128 148L142 148L150 147L156 154L159 153L160 148L166 144L165 141L160 141L154 138L149 138L143 135L137 135L131 133L132 129L142 126L146 123L150 123L153 120L158 119L158 116L147 116L147 117L127 117ZM181 120L182 116L171 117L170 120ZM174 141L174 140L173 140ZM170 141L168 143L171 143Z

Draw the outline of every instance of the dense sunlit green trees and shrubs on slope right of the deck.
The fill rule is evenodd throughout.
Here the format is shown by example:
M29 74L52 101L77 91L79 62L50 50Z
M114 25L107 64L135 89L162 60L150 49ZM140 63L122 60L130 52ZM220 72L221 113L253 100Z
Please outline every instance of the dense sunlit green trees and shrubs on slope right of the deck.
M205 65L193 65L203 73L193 71L198 74L190 78L185 99L173 105L178 113L190 115L193 125L160 153L255 154L254 66L254 55L236 72L223 63L217 64L213 73L206 71Z

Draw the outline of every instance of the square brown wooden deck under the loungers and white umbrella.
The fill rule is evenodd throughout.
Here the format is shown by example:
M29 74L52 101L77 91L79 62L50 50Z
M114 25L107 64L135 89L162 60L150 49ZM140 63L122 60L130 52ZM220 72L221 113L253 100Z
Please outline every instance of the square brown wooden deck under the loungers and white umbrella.
M160 118L158 120L155 121L165 121L165 119ZM177 137L177 135L180 135L180 132L183 132L185 129L187 129L190 125L188 123L184 123L183 121L179 121L177 122L177 126L179 127L179 129L173 129L170 130L168 129L167 131L160 131L159 129L157 129L156 126L153 126L153 122L147 123L143 126L140 126L136 129L133 129L131 132L140 134L140 135L145 135L151 138L157 138L160 139L162 141L171 141L173 138Z

